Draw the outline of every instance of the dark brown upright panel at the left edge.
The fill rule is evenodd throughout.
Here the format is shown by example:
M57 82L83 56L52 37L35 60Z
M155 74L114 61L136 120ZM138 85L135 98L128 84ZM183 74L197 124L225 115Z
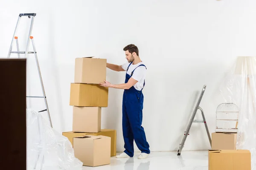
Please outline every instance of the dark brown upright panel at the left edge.
M26 170L26 59L0 59L0 169Z

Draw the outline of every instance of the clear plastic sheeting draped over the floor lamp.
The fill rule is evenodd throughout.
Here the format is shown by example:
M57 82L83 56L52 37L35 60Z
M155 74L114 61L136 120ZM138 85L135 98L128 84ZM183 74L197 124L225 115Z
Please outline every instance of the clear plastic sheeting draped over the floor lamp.
M237 57L236 63L219 87L218 102L239 107L237 149L251 152L256 170L256 57Z

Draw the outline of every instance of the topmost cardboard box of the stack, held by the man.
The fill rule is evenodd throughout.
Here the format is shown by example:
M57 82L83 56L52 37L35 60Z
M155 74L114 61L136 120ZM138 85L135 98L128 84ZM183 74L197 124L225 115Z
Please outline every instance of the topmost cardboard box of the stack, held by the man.
M107 59L76 58L75 83L99 84L106 80Z

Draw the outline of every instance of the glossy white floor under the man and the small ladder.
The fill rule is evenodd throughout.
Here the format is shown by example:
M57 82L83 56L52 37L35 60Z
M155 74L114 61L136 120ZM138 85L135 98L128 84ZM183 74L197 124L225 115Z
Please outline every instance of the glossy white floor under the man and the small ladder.
M119 154L119 153L118 153ZM111 164L99 167L83 167L83 170L208 170L208 151L152 152L147 159L116 159Z

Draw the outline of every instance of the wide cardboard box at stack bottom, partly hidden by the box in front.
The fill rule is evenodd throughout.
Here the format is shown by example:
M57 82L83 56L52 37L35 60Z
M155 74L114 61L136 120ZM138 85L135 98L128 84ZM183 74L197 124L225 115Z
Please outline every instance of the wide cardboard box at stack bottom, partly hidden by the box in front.
M98 133L76 133L76 132L63 132L63 136L66 136L73 146L73 138L84 135L94 135L94 136L108 136L111 137L111 156L116 156L116 130L112 129L102 129Z

